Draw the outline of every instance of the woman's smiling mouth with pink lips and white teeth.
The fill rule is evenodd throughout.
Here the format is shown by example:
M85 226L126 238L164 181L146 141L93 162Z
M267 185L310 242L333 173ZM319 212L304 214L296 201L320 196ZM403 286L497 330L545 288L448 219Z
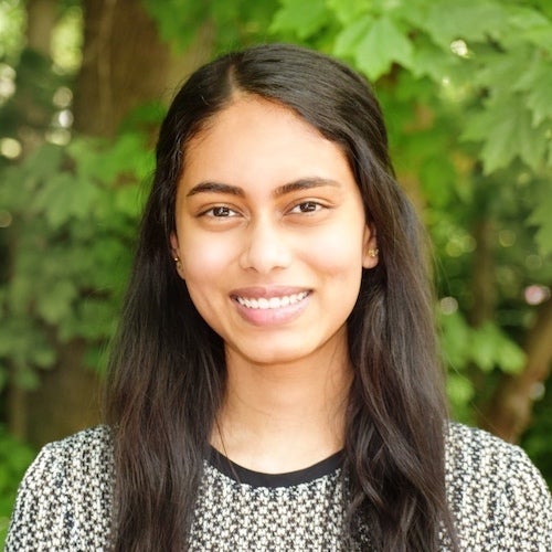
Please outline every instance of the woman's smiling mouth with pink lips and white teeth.
M232 290L230 294L240 316L258 327L280 326L297 318L308 306L311 289L296 286L244 287ZM274 305L277 298L285 299ZM259 306L259 300L261 305ZM267 301L273 299L270 306Z

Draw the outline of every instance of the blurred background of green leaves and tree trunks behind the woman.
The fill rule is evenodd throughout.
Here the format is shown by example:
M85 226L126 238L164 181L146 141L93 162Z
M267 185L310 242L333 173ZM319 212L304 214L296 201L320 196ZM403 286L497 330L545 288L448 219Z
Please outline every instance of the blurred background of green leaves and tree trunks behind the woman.
M100 421L171 96L274 41L373 83L434 243L452 415L552 484L549 0L0 0L0 543L38 448Z

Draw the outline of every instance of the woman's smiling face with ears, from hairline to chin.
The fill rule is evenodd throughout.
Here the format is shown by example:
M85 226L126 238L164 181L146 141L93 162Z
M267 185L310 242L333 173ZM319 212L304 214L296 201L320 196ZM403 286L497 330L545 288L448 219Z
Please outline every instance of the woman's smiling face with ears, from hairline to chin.
M229 362L347 354L375 236L336 144L280 105L240 97L189 144L176 222L179 274Z

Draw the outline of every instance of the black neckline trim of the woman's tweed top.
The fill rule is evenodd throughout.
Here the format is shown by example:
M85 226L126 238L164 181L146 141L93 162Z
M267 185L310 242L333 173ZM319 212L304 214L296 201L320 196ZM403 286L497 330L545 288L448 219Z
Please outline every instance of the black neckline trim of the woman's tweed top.
M309 466L308 468L298 469L296 471L288 471L285 474L264 474L262 471L254 471L244 468L238 464L233 463L226 458L216 448L210 447L209 463L219 471L230 477L240 484L246 484L252 487L294 487L300 484L307 484L333 474L341 467L343 460L343 452L340 450L332 454L330 457Z

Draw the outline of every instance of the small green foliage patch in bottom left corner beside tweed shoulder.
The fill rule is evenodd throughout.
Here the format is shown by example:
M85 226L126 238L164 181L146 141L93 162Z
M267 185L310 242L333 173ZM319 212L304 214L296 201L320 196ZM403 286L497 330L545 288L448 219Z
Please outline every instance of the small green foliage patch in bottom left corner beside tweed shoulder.
M0 546L3 548L19 482L35 450L0 425Z

